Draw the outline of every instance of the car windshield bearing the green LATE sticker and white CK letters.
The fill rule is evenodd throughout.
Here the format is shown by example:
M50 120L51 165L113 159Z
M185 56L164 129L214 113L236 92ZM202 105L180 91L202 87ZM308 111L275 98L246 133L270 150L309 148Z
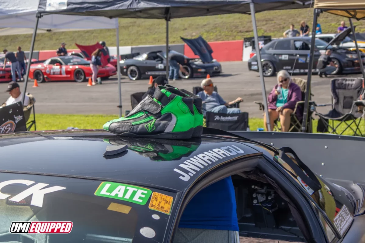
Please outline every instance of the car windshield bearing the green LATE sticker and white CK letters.
M145 242L146 238L162 242L172 208L166 203L171 200L172 204L170 196L175 195L108 181L10 173L0 176L0 242L131 243ZM31 194L22 194L25 190ZM168 213L156 208L159 200L158 205ZM17 234L21 229L12 222L72 222L73 226L68 234L51 234L45 231L46 224L38 223L28 230L43 234Z

